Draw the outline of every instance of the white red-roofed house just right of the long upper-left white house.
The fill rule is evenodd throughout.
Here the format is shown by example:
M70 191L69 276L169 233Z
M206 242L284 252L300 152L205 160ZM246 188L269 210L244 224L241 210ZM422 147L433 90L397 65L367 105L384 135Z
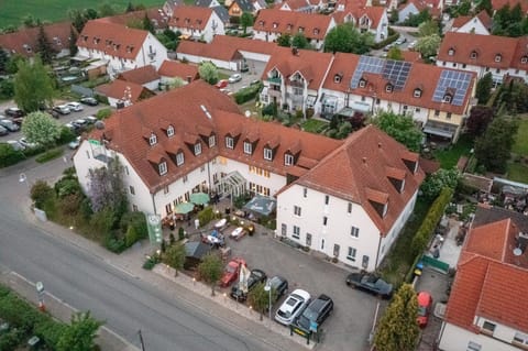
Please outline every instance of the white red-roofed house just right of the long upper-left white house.
M210 43L217 34L226 34L223 21L210 8L177 7L168 25L172 31L180 32L184 39L206 43Z

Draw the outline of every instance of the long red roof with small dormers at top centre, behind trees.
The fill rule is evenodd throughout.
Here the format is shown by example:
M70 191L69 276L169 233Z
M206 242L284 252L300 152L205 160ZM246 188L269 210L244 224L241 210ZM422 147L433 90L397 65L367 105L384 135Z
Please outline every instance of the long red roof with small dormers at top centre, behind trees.
M332 18L324 14L263 9L258 11L253 30L295 35L300 29L309 40L323 40L331 22Z

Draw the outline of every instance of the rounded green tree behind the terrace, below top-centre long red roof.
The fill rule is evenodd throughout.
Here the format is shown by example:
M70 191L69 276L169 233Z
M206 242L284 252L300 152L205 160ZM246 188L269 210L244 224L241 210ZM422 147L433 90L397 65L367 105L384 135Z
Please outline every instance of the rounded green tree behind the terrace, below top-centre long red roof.
M374 44L372 33L360 33L352 23L341 23L328 32L324 39L324 52L352 53L362 55Z

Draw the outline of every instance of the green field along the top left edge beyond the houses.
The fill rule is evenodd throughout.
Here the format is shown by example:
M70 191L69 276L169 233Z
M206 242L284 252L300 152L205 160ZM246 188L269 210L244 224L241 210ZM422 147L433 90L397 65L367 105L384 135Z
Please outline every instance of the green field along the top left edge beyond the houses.
M130 0L107 1L119 11L123 12ZM21 19L32 14L35 19L47 22L61 22L68 19L68 11L73 9L92 8L98 10L105 1L79 0L0 0L0 28L19 25ZM145 7L162 7L164 0L132 0L133 4Z

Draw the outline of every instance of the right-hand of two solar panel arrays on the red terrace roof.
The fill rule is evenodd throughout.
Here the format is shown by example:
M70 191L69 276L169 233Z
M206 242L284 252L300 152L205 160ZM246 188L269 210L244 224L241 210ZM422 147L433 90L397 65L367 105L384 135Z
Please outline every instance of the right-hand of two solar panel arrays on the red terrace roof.
M432 95L432 101L442 102L448 89L454 90L451 103L462 106L471 83L471 74L461 70L443 69Z

